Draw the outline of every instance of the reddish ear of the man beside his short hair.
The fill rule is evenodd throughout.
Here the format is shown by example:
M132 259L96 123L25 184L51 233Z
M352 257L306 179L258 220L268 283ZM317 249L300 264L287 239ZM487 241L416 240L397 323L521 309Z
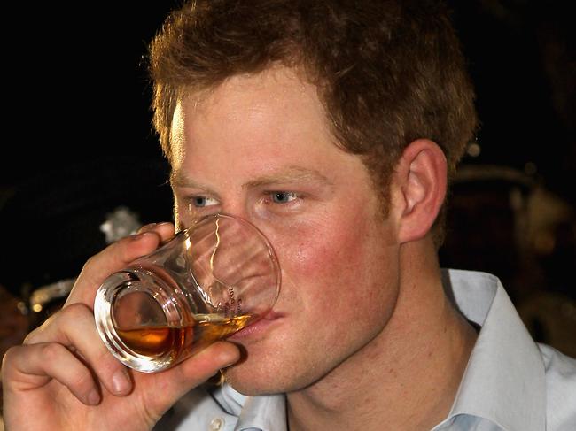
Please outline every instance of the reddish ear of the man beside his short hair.
M401 197L400 242L423 238L444 203L447 163L440 147L427 139L411 142L394 173Z

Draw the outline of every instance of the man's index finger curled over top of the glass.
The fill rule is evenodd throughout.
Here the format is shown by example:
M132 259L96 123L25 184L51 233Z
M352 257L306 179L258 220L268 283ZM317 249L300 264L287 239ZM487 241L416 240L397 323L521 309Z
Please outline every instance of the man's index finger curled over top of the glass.
M83 266L64 306L82 303L92 309L97 289L108 275L120 271L136 258L156 250L160 243L166 242L172 236L174 225L160 223L140 234L122 238L92 256Z

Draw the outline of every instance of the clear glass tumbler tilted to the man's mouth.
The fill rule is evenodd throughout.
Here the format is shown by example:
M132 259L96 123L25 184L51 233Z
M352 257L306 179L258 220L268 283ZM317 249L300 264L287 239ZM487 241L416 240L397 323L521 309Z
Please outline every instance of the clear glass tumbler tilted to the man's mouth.
M216 214L110 275L94 315L113 355L152 373L261 319L279 289L268 239L244 219Z

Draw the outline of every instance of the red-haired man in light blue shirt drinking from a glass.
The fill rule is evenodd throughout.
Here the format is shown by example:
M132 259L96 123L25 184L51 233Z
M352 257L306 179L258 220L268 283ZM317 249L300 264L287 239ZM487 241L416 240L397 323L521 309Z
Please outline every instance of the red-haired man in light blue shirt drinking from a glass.
M151 54L176 225L252 221L281 294L228 342L128 372L91 305L174 233L145 227L6 355L8 429L573 429L574 360L532 342L494 277L439 268L447 179L476 126L441 4L198 0ZM222 386L199 386L219 369Z

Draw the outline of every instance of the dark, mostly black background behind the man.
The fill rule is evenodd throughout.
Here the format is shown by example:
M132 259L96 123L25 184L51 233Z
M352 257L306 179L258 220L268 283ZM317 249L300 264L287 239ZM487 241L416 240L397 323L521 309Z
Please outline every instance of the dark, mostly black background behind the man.
M576 354L574 332L557 329L576 322L570 2L451 3L482 126L455 184L441 263L499 275L533 335ZM4 33L0 284L20 309L105 245L98 226L118 205L143 223L171 218L144 56L176 4L5 12L15 29Z

